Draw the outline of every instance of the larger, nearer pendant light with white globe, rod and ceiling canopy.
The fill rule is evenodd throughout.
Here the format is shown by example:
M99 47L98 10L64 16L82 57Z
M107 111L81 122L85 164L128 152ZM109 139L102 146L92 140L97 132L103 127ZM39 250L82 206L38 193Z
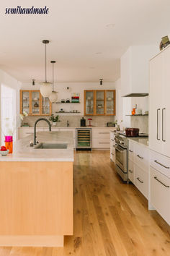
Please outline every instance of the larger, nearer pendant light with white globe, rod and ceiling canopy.
M40 93L42 97L48 98L52 92L51 82L47 82L47 57L46 57L46 46L49 43L49 40L42 40L42 43L45 43L45 82L40 82Z

